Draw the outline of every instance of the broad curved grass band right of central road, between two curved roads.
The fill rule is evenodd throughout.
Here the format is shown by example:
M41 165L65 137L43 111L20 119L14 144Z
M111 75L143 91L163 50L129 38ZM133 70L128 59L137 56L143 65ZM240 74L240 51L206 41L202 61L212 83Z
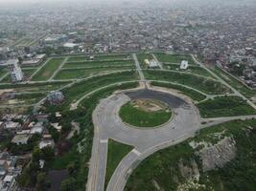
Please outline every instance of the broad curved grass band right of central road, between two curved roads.
M206 77L196 76L194 74L149 70L144 71L144 74L147 79L169 81L187 85L208 95L231 93L231 90L223 86L220 82Z

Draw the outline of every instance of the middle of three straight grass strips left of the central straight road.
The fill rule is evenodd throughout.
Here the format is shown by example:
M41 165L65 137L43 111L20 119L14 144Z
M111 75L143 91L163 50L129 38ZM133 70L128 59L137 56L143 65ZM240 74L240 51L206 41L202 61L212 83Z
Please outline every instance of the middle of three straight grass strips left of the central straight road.
M133 60L67 62L63 68L108 67L134 65Z

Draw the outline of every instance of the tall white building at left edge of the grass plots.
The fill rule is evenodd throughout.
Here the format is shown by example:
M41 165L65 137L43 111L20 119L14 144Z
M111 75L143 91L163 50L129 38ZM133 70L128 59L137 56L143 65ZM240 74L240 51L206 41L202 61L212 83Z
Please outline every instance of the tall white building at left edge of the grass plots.
M19 66L18 59L8 60L6 64L10 68L12 82L22 81L24 74L22 73L22 70Z

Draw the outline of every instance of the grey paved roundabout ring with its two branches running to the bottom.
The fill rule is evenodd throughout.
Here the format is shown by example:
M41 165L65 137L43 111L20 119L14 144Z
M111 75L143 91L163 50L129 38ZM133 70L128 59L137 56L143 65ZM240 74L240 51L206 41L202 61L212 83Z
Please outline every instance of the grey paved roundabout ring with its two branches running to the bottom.
M145 95L140 94L139 96L147 95L151 95L151 92L147 92ZM93 113L93 122L96 130L87 190L104 190L107 152L105 151L105 144L101 143L101 141L112 138L134 146L134 150L120 163L107 187L109 191L120 191L125 186L125 177L129 168L134 166L137 161L146 158L151 153L162 148L163 145L164 147L168 146L187 135L189 137L193 136L198 130L200 120L197 108L192 103L187 103L176 96L166 93L161 93L160 95L153 93L152 96L161 99L165 98L166 102L170 100L170 106L172 106L175 114L172 121L157 129L142 130L131 128L119 118L119 108L129 100L138 97L138 95L118 94L110 96L103 99L97 106Z

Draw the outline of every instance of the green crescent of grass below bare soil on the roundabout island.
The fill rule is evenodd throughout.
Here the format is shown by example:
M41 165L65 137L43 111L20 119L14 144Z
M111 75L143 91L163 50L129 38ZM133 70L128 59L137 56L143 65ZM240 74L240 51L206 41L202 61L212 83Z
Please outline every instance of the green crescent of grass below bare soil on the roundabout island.
M128 102L121 107L120 117L124 122L136 127L155 127L167 122L172 117L172 111L161 109L159 111L145 111L134 107L132 102Z

